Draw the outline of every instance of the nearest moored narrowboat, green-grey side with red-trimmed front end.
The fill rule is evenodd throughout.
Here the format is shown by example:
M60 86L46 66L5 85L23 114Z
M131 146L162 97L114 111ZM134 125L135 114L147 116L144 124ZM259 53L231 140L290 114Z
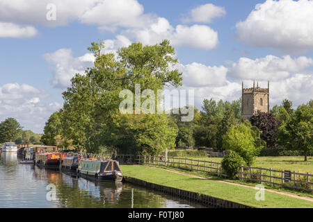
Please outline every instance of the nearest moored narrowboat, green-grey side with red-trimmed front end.
M122 182L123 178L116 160L83 159L79 162L77 174L86 179L105 182Z

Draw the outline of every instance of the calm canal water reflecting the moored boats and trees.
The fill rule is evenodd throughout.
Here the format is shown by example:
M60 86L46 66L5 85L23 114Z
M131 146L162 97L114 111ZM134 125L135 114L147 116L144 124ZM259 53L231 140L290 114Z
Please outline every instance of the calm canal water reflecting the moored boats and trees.
M127 183L76 178L33 164L19 164L16 153L0 153L0 208L200 208L197 203Z

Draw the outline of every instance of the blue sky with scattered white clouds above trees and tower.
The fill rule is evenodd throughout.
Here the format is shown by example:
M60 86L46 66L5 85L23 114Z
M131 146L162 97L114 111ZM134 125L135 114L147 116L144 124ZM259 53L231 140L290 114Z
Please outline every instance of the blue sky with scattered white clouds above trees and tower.
M61 108L74 72L92 65L86 48L98 39L111 51L170 39L198 108L204 98L238 99L243 79L270 80L271 106L312 99L310 0L27 2L0 3L0 121L15 117L35 133ZM56 20L46 19L48 3Z

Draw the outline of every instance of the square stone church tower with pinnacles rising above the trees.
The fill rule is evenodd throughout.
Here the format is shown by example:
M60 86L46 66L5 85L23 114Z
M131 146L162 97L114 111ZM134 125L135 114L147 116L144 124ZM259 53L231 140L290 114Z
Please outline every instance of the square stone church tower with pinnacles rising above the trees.
M242 82L242 103L241 103L241 116L244 119L249 119L257 110L261 112L269 112L269 81L266 88L260 88L259 83L255 87L243 89Z

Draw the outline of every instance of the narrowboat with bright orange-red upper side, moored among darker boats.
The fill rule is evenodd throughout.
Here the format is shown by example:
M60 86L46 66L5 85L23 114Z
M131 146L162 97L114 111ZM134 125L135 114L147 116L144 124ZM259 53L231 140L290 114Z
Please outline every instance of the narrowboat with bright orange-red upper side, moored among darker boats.
M40 167L59 168L63 153L36 153L35 164Z

